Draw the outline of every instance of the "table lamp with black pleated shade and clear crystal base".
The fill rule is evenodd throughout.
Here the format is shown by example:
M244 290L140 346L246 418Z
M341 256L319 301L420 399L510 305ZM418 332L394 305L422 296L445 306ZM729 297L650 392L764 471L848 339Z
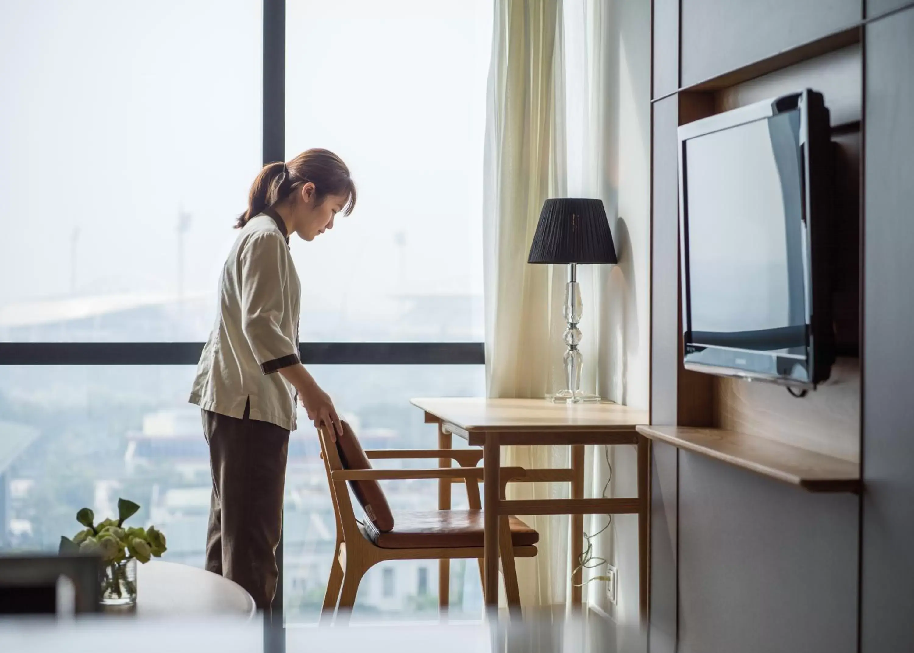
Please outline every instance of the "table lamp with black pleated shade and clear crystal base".
M530 256L526 262L567 263L569 266L569 282L565 286L565 304L562 308L562 316L568 322L568 329L562 334L568 345L564 357L567 388L551 397L552 400L568 404L599 402L599 396L580 390L582 360L578 349L578 323L581 317L578 266L618 262L602 200L571 197L547 199L539 214L537 233L533 237Z

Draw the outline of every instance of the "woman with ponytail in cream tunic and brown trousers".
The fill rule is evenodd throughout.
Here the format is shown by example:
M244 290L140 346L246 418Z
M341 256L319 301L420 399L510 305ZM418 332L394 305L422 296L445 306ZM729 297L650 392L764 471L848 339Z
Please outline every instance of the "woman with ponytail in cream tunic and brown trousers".
M207 570L244 587L261 610L276 593L296 397L315 427L342 433L333 402L299 361L301 286L289 235L310 242L355 205L356 185L334 153L308 150L264 166L236 224L190 395L203 414L213 475Z

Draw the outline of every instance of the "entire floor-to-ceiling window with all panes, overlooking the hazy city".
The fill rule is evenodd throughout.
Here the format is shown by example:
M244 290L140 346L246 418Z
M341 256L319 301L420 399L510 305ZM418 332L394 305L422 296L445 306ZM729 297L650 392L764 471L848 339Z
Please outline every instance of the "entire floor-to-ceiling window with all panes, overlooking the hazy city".
M335 150L359 189L353 216L292 243L303 362L366 447L435 446L409 398L484 392L491 23L492 0L0 6L0 548L56 549L78 509L127 497L166 559L203 565L211 481L187 395L234 218L283 153ZM281 586L286 621L308 624L335 524L299 423ZM436 507L433 480L385 488L395 509ZM437 581L434 561L374 569L356 614L433 616ZM478 616L473 561L451 586L452 614Z

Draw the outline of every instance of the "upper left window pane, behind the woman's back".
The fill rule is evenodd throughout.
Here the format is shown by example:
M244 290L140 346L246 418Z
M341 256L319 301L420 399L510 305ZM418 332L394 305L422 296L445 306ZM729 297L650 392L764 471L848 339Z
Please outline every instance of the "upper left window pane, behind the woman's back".
M0 341L197 341L260 170L260 0L0 8Z

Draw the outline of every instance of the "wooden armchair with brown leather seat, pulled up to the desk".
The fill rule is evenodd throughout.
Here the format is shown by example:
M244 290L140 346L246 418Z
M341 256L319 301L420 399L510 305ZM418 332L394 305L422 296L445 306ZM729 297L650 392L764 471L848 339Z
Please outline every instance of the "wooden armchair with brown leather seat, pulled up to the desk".
M335 615L335 623L345 623L356 601L362 576L377 563L388 560L441 560L476 558L482 575L484 555L483 511L479 482L483 469L474 467L483 458L475 449L399 449L369 450L367 458L450 458L462 467L434 469L345 469L336 443L324 428L319 429L322 458L336 518L334 563L327 581L321 623ZM452 479L465 482L470 504L468 511L394 511L394 528L378 533L356 519L347 482L387 479ZM512 480L571 479L570 469L502 469L502 492ZM514 614L520 607L515 557L537 555L539 533L516 517L502 519L500 555L505 580L505 595Z

